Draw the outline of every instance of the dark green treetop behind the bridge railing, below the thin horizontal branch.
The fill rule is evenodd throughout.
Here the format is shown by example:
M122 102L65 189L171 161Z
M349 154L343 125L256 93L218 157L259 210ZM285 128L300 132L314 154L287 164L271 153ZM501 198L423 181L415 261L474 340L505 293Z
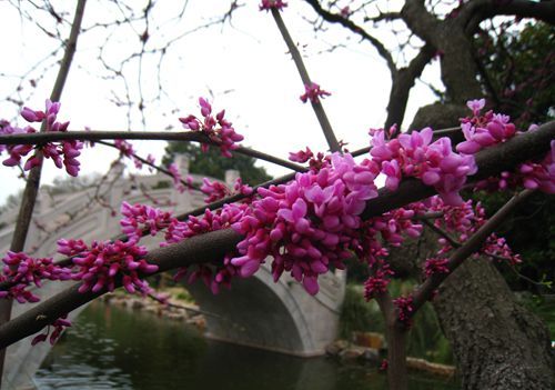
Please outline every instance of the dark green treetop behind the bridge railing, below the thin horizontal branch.
M203 152L199 146L190 142L169 142L162 162L170 164L176 153L189 156L189 171L191 173L223 180L226 170L235 169L241 173L243 182L251 186L272 179L264 168L254 166L255 160L252 157L233 153L233 158L228 159L221 156L218 148L210 148Z

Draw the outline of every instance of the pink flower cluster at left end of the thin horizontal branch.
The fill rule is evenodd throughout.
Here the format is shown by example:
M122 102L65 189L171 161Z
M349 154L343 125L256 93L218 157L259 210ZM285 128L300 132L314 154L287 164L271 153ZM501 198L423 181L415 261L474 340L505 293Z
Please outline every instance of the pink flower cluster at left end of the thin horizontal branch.
M51 102L47 100L46 111L34 111L26 107L21 111L21 117L23 117L28 122L42 122L46 121L46 131L60 131L64 132L68 130L69 122L57 122L58 111L60 110L60 103ZM32 127L27 127L26 129L12 128L6 122L0 127L1 132L4 134L11 133L33 133L37 132ZM79 161L77 158L81 154L81 149L83 148L83 142L81 141L60 141L60 142L47 142L42 146L31 146L31 144L17 144L9 146L4 150L10 154L2 163L7 167L14 167L21 162L21 158L27 156L30 151L34 150L34 153L27 159L23 169L30 170L33 167L41 164L41 159L38 157L37 151L40 151L44 158L52 159L56 167L65 167L65 171L70 176L78 176L79 173ZM0 150L1 151L1 150Z

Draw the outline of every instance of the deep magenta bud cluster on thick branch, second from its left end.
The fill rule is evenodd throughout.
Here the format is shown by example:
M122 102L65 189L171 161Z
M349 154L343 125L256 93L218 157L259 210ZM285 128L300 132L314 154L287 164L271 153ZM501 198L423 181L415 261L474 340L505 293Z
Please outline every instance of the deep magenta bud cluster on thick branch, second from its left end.
M103 289L113 291L115 281L121 278L128 292L149 292L148 283L140 279L144 273L152 273L158 266L144 260L147 248L138 247L137 241L92 241L85 246L81 240L59 240L58 251L75 256L72 260L78 266L73 280L82 281L80 292L99 292Z

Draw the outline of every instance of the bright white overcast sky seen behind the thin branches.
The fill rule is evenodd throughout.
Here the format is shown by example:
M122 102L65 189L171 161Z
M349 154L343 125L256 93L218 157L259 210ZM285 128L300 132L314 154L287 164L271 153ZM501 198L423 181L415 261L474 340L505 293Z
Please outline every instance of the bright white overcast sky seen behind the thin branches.
M73 2L52 3L57 12L67 12L65 17L71 19ZM71 130L84 127L92 130L180 130L178 118L200 114L198 98L206 97L215 111L225 109L235 131L244 136L243 146L281 158L306 146L314 151L325 151L325 139L310 104L299 99L304 87L272 17L258 10L258 1L244 3L233 13L231 24L218 23L199 30L212 18L224 14L229 2L190 0L180 19L176 16L183 2L158 4L149 19L150 38L145 48L162 47L168 40L173 43L167 48L162 62L157 53L145 56L141 72L138 71L138 58L128 60L122 68L125 88L122 78L110 79L113 74L101 66L99 56L110 67L119 67L140 49L138 34L144 31L145 24L138 21L115 29L92 28L121 18L122 10L111 2L90 1L83 20L87 32L78 42L61 98L60 120L69 120ZM58 43L43 32L56 31L51 16L37 10L29 10L29 14L41 28L21 18L8 2L0 2L0 34L9 37L0 43L4 58L0 62L0 118L19 126L26 123L17 118L18 108L6 99L23 99L24 106L42 109L56 78L56 61L61 58L60 53L50 56ZM386 116L391 80L384 61L369 43L347 39L350 34L341 28L326 27L325 32L315 33L307 22L315 14L302 1L290 1L283 18L299 42L311 79L332 93L323 100L323 106L337 139L349 142L351 150L367 146L369 129L380 128ZM67 37L69 27L62 26L60 33ZM394 46L393 38L383 34L386 42ZM180 36L182 38L176 39ZM330 51L334 44L340 47ZM33 66L44 59L52 66L48 70L41 67L33 70ZM28 79L22 83L23 90L18 92L16 76L24 73L29 74ZM432 64L425 70L424 79L437 80L437 73L436 64ZM37 88L29 87L30 79L38 81ZM137 104L129 112L117 103L127 94L139 101L139 90L145 100L144 122ZM163 93L159 93L160 90ZM28 91L32 93L28 96ZM411 92L405 126L418 107L432 101L434 96L428 88L416 83ZM133 141L133 146L139 154L152 153L160 161L165 143ZM87 149L79 158L80 174L104 172L115 157L113 150L99 146ZM272 176L287 172L273 164L260 164ZM23 188L23 180L18 176L17 169L0 167L0 203ZM43 183L63 176L67 176L64 171L53 168L51 161L46 162Z

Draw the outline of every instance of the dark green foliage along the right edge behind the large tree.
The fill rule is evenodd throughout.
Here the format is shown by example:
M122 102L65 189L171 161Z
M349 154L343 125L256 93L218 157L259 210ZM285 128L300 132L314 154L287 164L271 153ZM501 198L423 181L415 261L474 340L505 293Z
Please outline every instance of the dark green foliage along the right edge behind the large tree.
M506 24L508 26L508 24ZM506 28L502 27L501 29ZM526 130L529 123L555 119L555 27L531 22L523 29L493 37L482 34L477 40L478 57L485 70L482 78L493 90L495 110L509 114ZM487 80L487 81L486 81ZM491 100L491 99L490 99ZM482 201L488 214L498 210L511 197L509 192L473 194ZM497 231L511 248L521 253L519 273L544 286L519 278L506 264L498 264L513 289L546 292L546 284L555 280L555 198L537 193L521 204Z

